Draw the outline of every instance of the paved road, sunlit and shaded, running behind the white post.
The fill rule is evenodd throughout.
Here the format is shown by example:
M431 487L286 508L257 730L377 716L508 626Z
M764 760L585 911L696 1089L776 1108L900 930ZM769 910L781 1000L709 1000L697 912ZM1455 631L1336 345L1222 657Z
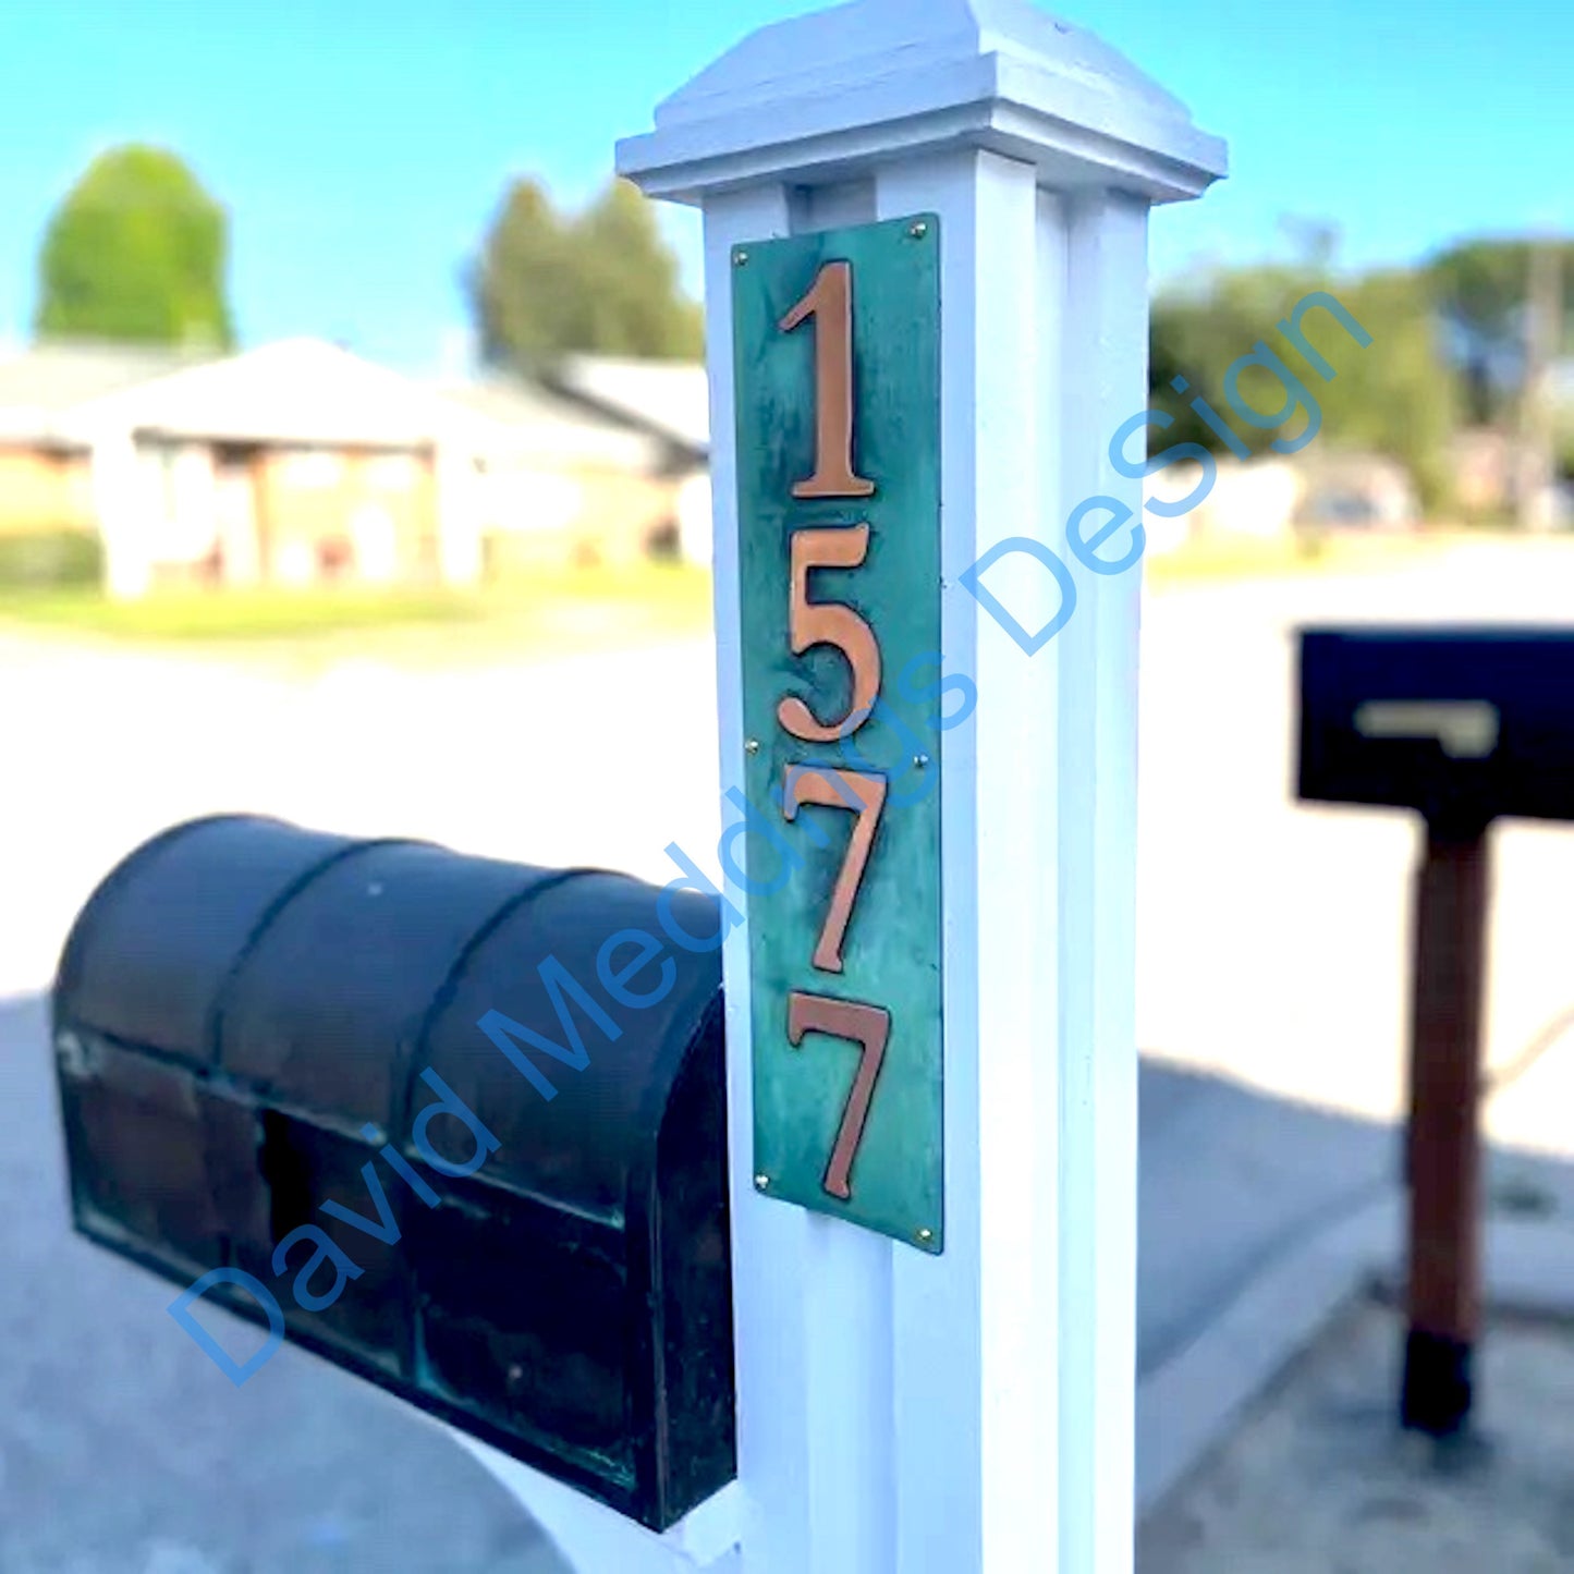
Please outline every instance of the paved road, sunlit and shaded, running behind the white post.
M1140 1358L1187 1343L1277 1253L1391 1173L1401 818L1289 800L1303 619L1574 615L1574 554L1396 579L1155 597L1143 732ZM985 697L987 702L987 697ZM236 1391L164 1316L162 1283L69 1237L41 1017L71 916L175 820L260 809L535 863L669 878L718 825L710 653L305 683L0 641L0 1569L510 1574L554 1569L490 1478L419 1417L296 1352ZM1491 1044L1574 1003L1574 833L1500 837ZM1558 1157L1574 1047L1495 1102ZM1503 1163L1563 1199L1561 1163ZM593 1571L601 1574L601 1571Z

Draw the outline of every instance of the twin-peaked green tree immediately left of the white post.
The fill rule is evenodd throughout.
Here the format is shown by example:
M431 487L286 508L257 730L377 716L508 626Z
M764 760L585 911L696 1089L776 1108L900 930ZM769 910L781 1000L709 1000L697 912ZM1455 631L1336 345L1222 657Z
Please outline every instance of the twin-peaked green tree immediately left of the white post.
M704 320L652 203L614 181L563 216L538 181L515 181L466 279L482 354L518 370L587 351L658 360L704 354Z

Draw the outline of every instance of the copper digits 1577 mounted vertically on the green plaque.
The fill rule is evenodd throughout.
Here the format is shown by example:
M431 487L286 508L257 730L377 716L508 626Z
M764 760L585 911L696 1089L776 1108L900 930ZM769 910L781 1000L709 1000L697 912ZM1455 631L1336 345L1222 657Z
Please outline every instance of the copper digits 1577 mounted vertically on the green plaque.
M875 483L853 472L853 266L826 263L814 288L782 318L782 332L814 318L815 455L814 474L798 482L792 494L801 499L872 497ZM831 743L852 735L867 719L880 694L880 641L853 608L809 600L812 568L858 568L869 552L869 526L795 530L792 537L792 589L789 630L792 653L811 645L834 645L852 669L852 702L839 721L820 721L807 702L789 694L776 707L776 719L804 743ZM856 719L855 719L856 718ZM853 722L848 727L848 722ZM874 848L886 801L886 781L867 771L828 765L789 765L782 782L782 814L796 820L801 804L850 809L856 815L847 855L831 889L825 926L812 965L822 973L842 971L842 943L852 922L858 892ZM845 1039L859 1048L842 1121L836 1132L822 1185L829 1196L853 1195L853 1162L869 1122L869 1107L891 1037L891 1012L829 995L795 990L787 998L787 1042L798 1048L806 1033Z

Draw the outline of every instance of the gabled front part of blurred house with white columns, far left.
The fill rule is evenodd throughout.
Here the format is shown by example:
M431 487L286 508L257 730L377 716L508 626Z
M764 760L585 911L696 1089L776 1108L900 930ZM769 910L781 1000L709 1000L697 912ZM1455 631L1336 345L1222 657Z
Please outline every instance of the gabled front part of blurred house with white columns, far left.
M474 584L486 441L318 340L206 359L44 346L0 365L0 529L98 529L116 597Z

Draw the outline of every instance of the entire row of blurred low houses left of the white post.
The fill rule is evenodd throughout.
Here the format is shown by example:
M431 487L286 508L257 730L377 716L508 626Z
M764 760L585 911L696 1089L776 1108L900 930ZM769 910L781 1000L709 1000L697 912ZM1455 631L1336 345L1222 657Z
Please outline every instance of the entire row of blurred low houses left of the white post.
M44 345L0 354L0 532L99 530L118 597L708 560L707 398L699 365L427 386L310 338Z

